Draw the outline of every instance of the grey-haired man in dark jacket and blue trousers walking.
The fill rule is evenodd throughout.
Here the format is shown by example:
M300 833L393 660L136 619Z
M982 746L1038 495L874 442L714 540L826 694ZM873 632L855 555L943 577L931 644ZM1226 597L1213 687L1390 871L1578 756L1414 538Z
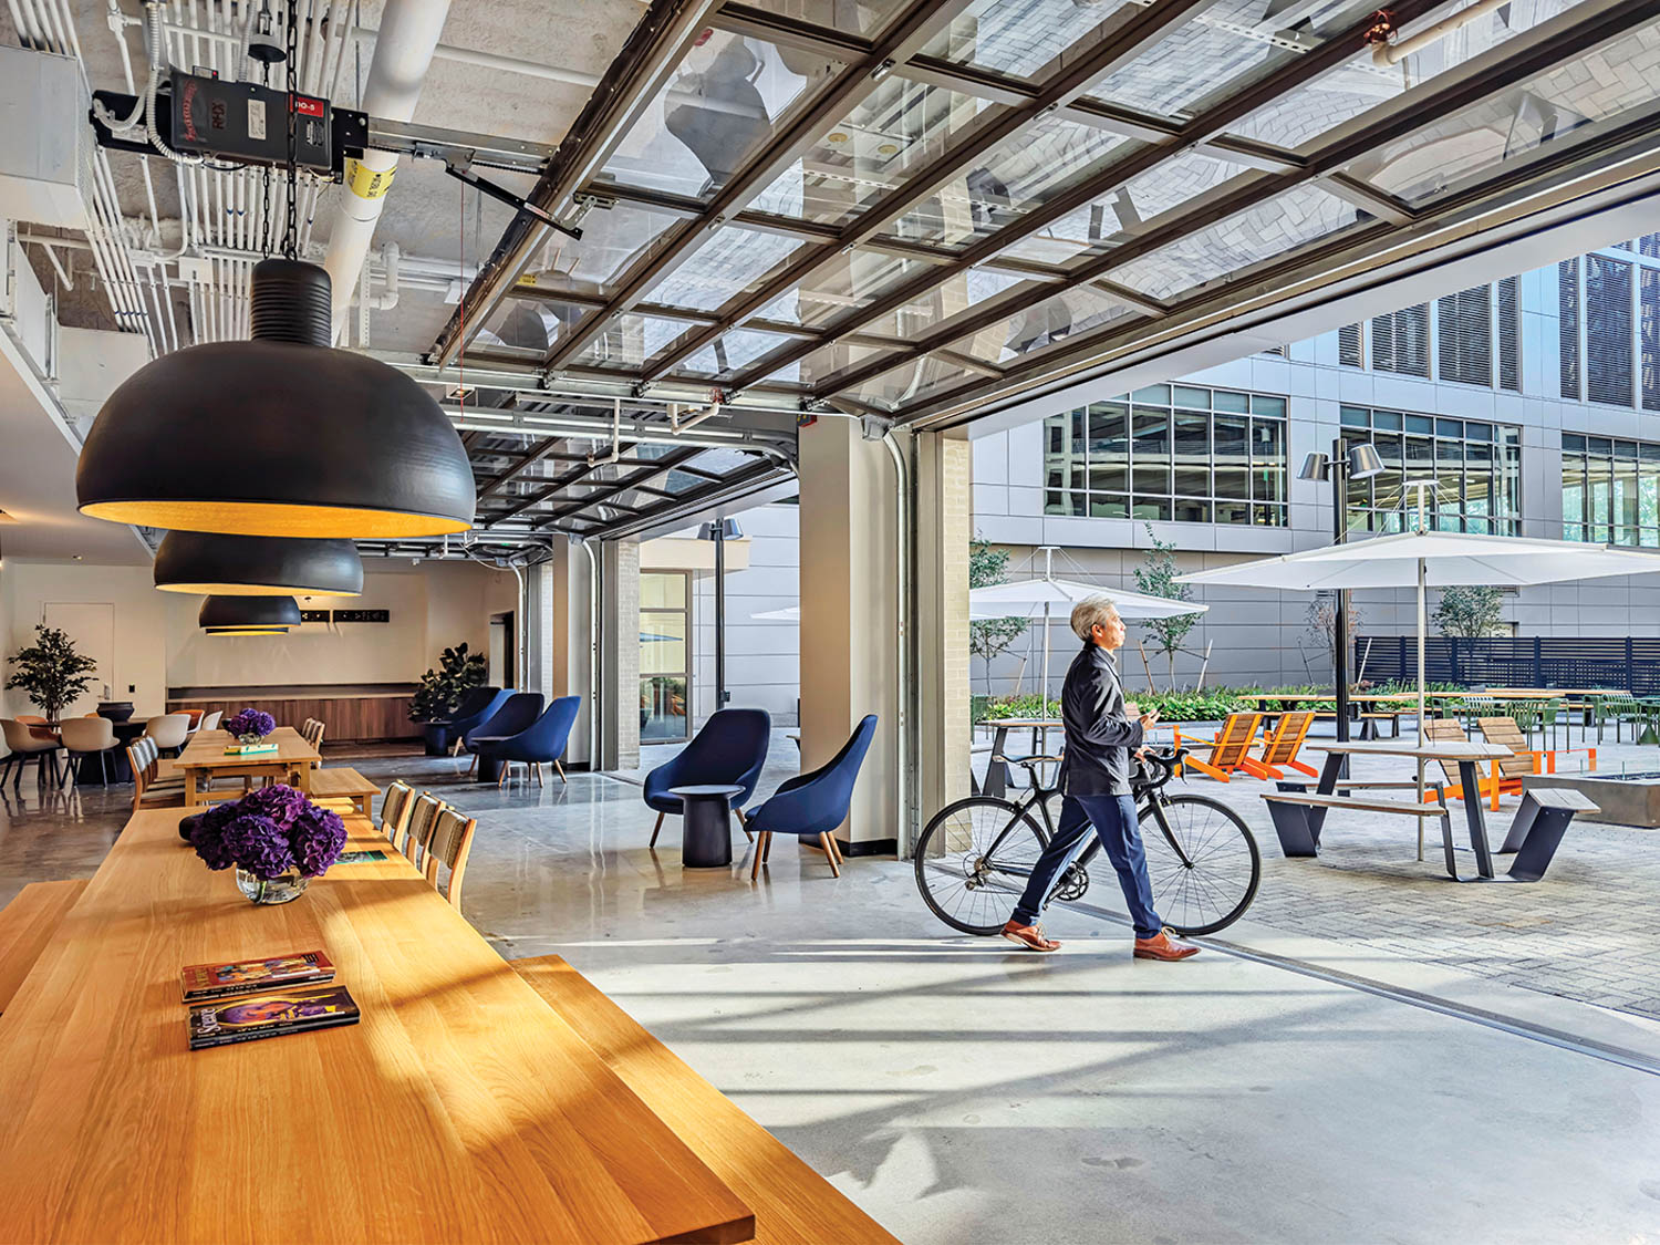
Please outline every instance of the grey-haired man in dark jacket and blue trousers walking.
M1066 754L1061 759L1061 823L1054 838L1033 865L1026 893L1014 905L1014 915L1003 926L1003 936L1028 951L1059 951L1061 945L1044 935L1038 916L1066 867L1072 863L1091 828L1101 837L1107 860L1117 870L1119 886L1135 925L1137 959L1187 959L1199 954L1170 938L1152 901L1147 880L1147 853L1142 848L1130 797L1130 752L1140 749L1157 714L1130 717L1119 684L1112 654L1124 644L1124 619L1104 596L1079 601L1072 609L1072 632L1084 641L1072 659L1061 689L1061 724L1066 727Z

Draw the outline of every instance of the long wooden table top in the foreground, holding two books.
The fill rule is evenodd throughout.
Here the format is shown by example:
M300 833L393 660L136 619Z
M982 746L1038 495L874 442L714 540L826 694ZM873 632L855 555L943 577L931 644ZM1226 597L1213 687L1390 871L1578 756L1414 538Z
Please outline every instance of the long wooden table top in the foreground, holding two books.
M181 812L128 822L0 1016L0 1240L754 1235L402 855L256 906L179 842ZM359 1024L188 1049L183 966L319 946Z

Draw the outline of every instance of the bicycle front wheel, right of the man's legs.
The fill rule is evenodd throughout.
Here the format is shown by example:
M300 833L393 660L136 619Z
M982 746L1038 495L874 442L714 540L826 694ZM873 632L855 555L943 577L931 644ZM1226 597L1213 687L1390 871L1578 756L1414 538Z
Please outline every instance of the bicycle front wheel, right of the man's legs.
M1207 935L1245 915L1262 881L1262 855L1237 812L1205 795L1172 795L1142 808L1140 827L1165 925Z

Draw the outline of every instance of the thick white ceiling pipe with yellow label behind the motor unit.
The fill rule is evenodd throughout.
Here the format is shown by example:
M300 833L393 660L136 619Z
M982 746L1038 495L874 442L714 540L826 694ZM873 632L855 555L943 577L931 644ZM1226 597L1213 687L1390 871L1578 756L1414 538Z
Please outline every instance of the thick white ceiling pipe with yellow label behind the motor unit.
M420 100L422 83L432 66L438 35L450 15L450 0L390 0L380 20L375 56L369 63L362 108L370 116L410 121ZM390 151L365 151L360 161L347 161L345 181L334 198L334 224L329 229L329 254L324 267L334 282L332 330L339 339L352 305L352 294L364 259L375 237L375 224L385 206L398 158Z

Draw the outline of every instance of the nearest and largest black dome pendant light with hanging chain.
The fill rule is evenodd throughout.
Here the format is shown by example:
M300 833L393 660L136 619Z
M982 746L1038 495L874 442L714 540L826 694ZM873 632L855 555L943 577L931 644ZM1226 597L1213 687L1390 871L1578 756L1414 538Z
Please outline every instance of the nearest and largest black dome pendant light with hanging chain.
M287 70L292 96L294 56ZM80 510L244 536L466 531L473 471L443 410L402 372L330 347L329 274L297 259L287 111L284 257L254 266L252 340L161 355L116 388L81 448Z

